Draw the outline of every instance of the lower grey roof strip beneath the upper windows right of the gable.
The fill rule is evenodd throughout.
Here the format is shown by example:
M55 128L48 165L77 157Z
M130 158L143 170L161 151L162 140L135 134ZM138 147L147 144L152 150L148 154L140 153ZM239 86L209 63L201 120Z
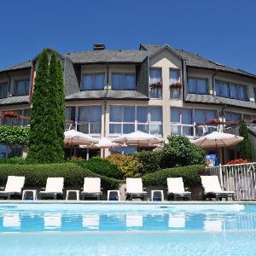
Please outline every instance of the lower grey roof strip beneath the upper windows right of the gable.
M227 106L236 106L241 108L256 109L255 102L245 102L245 101L239 101L239 100L224 98L220 96L212 96L212 95L188 94L186 96L185 102L218 104L218 105L227 105Z

